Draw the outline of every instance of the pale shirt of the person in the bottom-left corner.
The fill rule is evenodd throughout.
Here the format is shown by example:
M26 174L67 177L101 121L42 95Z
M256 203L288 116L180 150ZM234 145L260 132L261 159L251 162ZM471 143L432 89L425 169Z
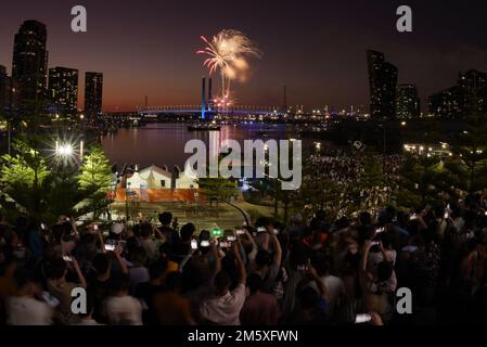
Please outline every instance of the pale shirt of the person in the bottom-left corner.
M8 298L7 312L9 325L51 325L54 314L48 304L25 296Z

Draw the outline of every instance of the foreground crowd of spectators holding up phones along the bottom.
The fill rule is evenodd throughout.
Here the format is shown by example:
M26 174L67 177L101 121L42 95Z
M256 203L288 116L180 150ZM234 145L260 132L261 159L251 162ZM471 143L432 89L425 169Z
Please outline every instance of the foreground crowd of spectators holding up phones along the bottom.
M487 192L411 213L325 216L295 215L287 226L259 218L221 234L179 228L170 213L106 226L0 217L0 322L487 322ZM412 314L396 309L400 287L412 293Z

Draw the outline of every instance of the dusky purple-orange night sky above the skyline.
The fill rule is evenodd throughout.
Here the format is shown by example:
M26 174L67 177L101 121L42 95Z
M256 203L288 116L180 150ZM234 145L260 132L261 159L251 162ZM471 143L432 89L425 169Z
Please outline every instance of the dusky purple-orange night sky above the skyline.
M448 2L448 3L446 3ZM487 70L485 1L193 1L57 0L0 4L0 64L11 72L13 38L25 20L48 26L49 67L104 73L104 110L200 101L200 36L238 29L264 52L252 77L236 85L243 104L306 107L368 105L366 50L398 66L399 82L426 98L452 86L462 69ZM88 33L71 31L71 9L88 11ZM396 31L396 9L413 9L413 33ZM80 103L82 106L82 102Z

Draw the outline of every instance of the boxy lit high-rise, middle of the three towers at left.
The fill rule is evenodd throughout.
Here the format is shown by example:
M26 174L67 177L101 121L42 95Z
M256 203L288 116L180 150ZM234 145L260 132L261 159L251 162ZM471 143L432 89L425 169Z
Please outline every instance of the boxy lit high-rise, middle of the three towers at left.
M49 69L49 100L53 113L76 116L78 105L78 70L67 67Z

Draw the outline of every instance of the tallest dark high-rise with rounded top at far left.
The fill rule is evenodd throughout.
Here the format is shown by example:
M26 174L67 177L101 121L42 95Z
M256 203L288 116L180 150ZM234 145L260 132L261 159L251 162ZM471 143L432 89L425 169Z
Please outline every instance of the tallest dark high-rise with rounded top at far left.
M18 83L21 113L40 112L46 95L48 52L46 25L37 21L22 24L14 39L12 77Z

